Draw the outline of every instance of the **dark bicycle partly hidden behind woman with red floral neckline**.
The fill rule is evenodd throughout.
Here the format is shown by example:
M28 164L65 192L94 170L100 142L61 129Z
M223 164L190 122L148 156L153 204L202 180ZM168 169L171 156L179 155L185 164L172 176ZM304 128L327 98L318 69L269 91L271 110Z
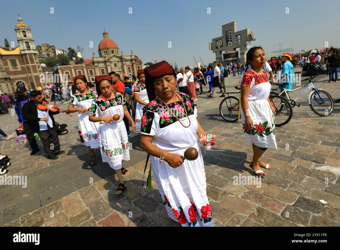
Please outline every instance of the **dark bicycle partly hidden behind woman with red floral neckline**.
M240 86L235 87L238 90ZM220 115L227 122L235 122L238 120L239 113L239 99L235 96L229 96L229 94L239 94L239 92L223 93L228 96L225 97L220 103ZM292 118L293 109L289 101L281 96L272 95L269 97L272 106L275 109L275 126L283 126L287 124Z

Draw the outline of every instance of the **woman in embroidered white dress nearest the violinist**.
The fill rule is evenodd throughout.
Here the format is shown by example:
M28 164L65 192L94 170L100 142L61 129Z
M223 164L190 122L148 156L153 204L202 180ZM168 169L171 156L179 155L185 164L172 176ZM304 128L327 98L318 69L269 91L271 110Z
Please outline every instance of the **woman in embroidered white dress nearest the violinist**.
M90 122L88 119L89 110L92 106L92 100L97 97L95 91L90 91L88 82L85 76L77 76L73 78L74 84L78 88L78 93L74 93L69 101L67 112L78 113L80 131L82 132L84 144L90 151L90 161L91 165L95 164L96 155L94 148L99 147L98 140L98 123Z

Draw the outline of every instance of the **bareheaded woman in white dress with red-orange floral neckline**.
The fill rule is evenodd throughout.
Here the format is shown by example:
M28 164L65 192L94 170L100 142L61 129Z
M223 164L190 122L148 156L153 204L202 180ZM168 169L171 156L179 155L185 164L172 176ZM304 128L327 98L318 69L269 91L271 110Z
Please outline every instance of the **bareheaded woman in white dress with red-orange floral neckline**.
M266 176L260 167L272 169L260 159L267 148L277 148L275 140L275 110L269 100L271 84L261 67L266 65L266 54L261 47L253 47L247 52L250 70L241 77L241 120L248 144L253 146L253 160L249 165L258 176Z

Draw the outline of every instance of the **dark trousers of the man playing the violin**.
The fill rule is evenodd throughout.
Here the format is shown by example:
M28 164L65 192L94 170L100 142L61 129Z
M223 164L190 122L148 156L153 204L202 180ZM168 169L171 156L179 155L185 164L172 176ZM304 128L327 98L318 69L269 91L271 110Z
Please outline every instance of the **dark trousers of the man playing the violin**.
M38 132L41 143L43 143L44 151L47 156L53 156L59 152L60 144L57 131L54 127L50 128L47 125L47 130L40 130Z

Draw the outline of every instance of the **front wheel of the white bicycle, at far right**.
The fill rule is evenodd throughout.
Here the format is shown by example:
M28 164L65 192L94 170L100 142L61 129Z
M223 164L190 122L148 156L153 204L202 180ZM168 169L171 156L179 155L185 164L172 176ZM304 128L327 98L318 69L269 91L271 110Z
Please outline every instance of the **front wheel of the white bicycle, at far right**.
M334 101L331 95L325 90L318 90L320 97L316 91L310 96L310 108L312 111L319 116L328 116L334 110Z

